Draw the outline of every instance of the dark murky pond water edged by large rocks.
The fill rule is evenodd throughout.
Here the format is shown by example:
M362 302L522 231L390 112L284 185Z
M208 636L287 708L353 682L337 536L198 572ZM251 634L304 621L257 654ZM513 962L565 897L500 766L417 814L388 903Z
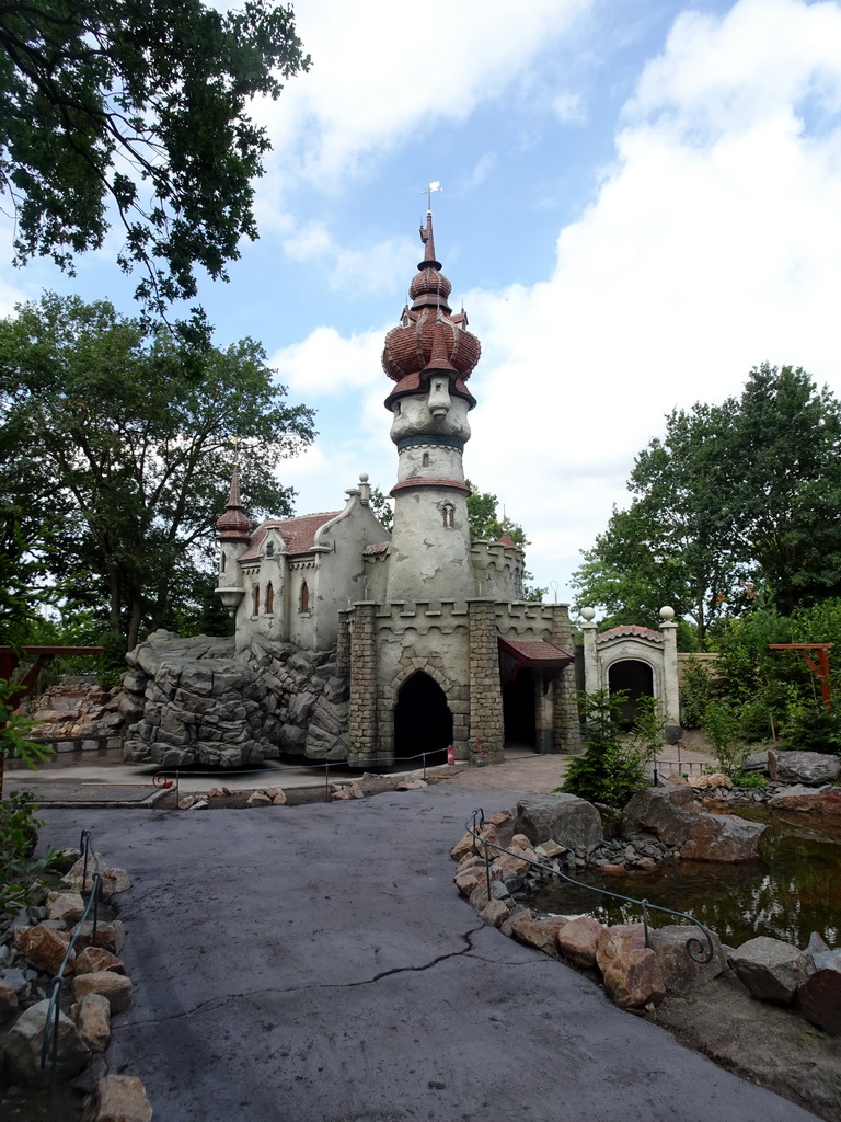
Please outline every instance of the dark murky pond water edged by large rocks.
M729 813L766 822L760 861L718 864L665 861L651 873L603 876L585 870L577 879L622 895L690 912L738 947L765 935L805 947L820 931L833 947L841 944L841 824L828 827L804 815L779 815L766 807L728 808ZM597 896L563 881L547 882L527 901L542 912L586 913L602 923L637 923L638 907ZM650 913L653 927L678 922Z

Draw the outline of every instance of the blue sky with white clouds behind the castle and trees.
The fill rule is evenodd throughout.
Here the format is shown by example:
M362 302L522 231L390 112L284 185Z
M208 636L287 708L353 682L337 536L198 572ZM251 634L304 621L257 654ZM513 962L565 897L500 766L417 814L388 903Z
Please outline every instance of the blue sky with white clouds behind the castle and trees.
M313 67L255 107L274 142L261 238L201 298L218 343L259 339L317 410L315 445L280 465L298 513L340 507L360 471L396 479L380 352L429 180L483 348L465 470L526 528L549 598L665 413L738 393L766 359L841 393L837 0L295 10ZM132 311L104 252L75 280L3 265L0 311L44 288Z

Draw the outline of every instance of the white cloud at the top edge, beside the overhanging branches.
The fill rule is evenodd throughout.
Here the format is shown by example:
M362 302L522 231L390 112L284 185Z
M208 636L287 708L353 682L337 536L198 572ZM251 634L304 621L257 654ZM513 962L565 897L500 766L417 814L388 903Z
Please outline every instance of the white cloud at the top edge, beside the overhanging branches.
M502 93L593 0L301 0L298 34L313 68L279 102L261 102L275 159L320 190L335 190L408 136L460 121ZM434 77L433 77L434 75Z

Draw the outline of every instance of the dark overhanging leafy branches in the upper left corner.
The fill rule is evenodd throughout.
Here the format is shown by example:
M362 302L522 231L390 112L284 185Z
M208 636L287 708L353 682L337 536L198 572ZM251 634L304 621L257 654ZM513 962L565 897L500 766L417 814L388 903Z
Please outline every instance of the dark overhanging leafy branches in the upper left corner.
M160 311L195 295L194 267L225 278L255 238L266 130L248 116L308 70L292 7L246 0L28 0L0 7L0 193L16 264L72 272L112 224L120 266L146 269Z

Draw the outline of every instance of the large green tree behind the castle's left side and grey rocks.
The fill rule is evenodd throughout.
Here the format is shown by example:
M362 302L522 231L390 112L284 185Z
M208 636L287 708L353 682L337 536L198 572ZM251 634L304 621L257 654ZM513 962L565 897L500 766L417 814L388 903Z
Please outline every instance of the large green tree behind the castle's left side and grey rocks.
M130 649L144 628L172 623L174 588L213 550L232 441L243 500L290 513L275 469L314 430L312 411L284 398L251 339L196 353L108 302L48 294L0 321L0 481L37 461L27 478L49 490L31 502L52 502L74 528L65 570L93 574L109 628Z

